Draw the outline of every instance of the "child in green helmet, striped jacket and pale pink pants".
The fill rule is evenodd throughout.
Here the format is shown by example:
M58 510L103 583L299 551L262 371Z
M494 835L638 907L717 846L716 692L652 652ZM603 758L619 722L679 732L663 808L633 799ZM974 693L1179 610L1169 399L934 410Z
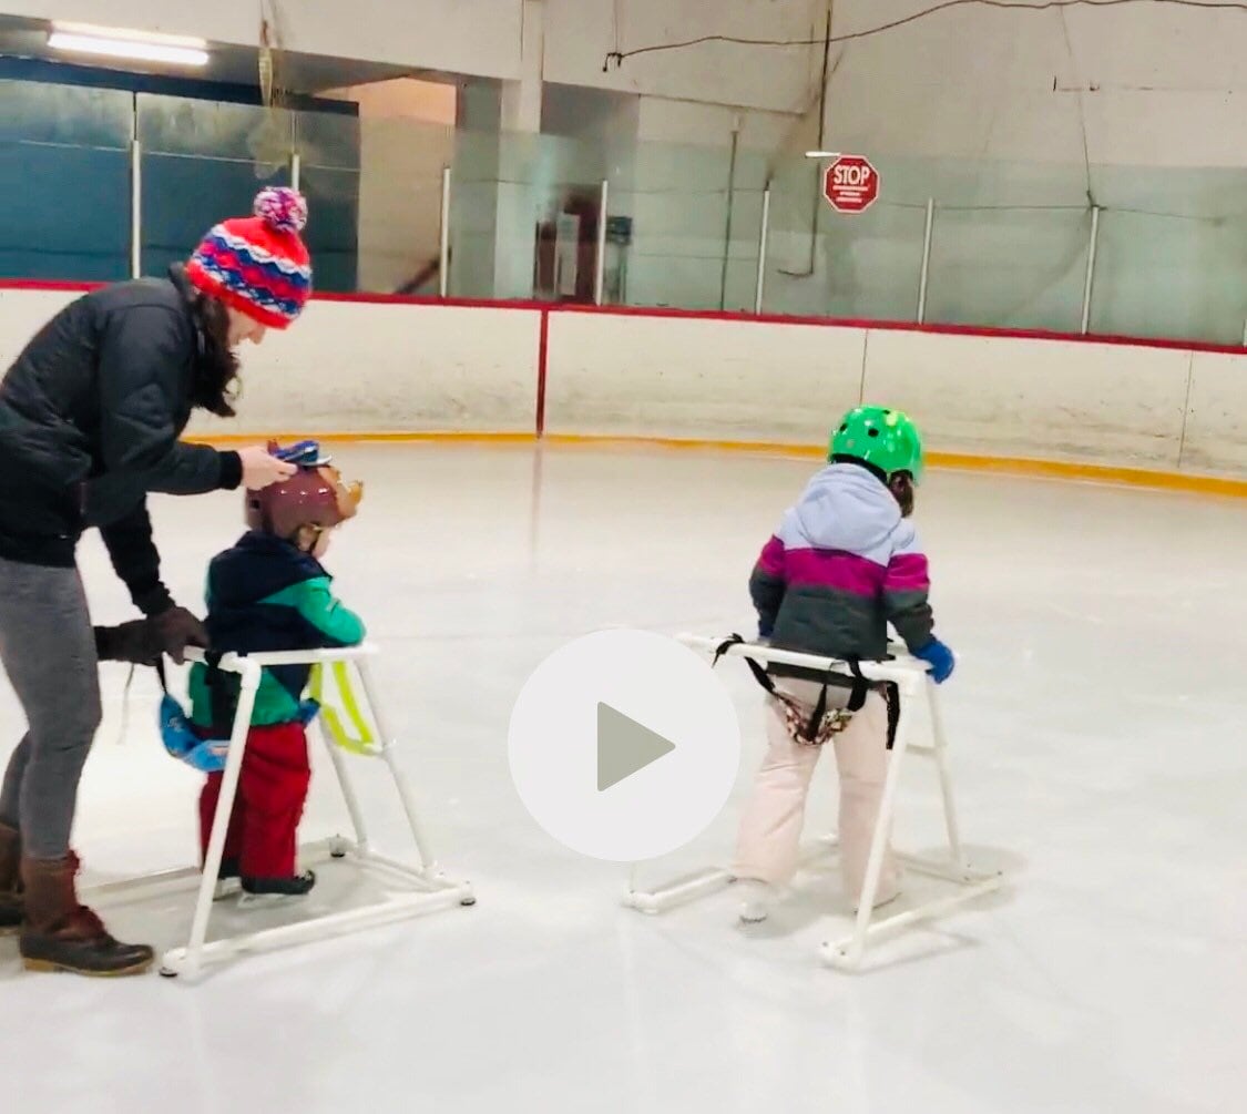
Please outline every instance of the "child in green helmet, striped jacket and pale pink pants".
M933 634L927 558L909 521L922 478L922 438L899 410L858 407L832 434L828 465L808 484L762 550L749 593L758 634L773 646L838 659L882 659L888 624L936 682L953 652ZM806 797L823 742L840 775L844 882L858 899L865 878L889 743L888 694L793 666L768 670L768 750L741 822L733 874L744 891L741 918L764 919L777 887L797 868ZM862 699L864 695L864 700ZM819 711L822 709L822 712ZM875 902L899 886L889 850Z

